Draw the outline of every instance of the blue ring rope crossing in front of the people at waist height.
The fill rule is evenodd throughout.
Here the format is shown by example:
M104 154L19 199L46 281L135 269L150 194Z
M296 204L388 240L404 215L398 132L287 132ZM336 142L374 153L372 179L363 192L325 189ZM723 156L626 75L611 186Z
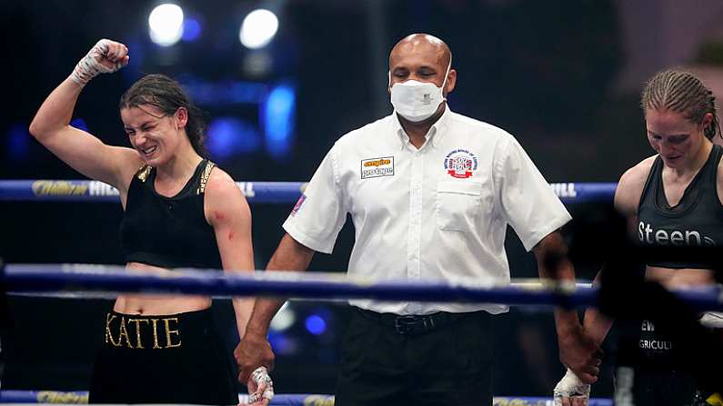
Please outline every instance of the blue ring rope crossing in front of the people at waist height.
M208 272L178 269L163 274L127 272L123 266L8 263L2 280L9 292L103 291L279 296L295 299L374 299L414 302L477 302L509 305L597 305L597 287L575 283L496 285L472 278L452 281L374 281L320 272ZM723 311L718 287L676 291L698 311Z

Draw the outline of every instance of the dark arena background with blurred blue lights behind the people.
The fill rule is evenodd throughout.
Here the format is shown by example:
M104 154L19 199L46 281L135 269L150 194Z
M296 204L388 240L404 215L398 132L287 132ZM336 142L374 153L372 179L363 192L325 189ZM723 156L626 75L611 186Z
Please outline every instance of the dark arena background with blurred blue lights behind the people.
M168 74L206 111L210 156L238 182L306 182L339 136L389 114L388 53L416 32L452 49L457 88L450 108L515 135L550 183L614 183L654 153L639 91L658 70L687 67L723 95L717 0L186 0L174 2L184 18L176 42L149 33L149 15L160 4L0 4L0 178L84 179L38 144L28 126L46 94L101 38L128 45L131 62L85 88L72 124L106 144L128 145L120 95L142 74ZM266 33L270 39L246 33L242 44L242 23L259 8L276 15L277 30ZM575 218L610 204L567 207ZM252 204L257 269L274 252L292 207ZM0 201L0 258L122 264L121 216L118 203ZM344 272L353 239L349 221L335 253L316 254L309 269ZM537 277L533 255L511 229L507 253L513 278ZM600 263L576 265L580 279L591 279ZM86 390L112 302L11 296L8 304L2 388ZM230 358L238 340L230 302L214 309ZM333 393L345 324L344 306L288 303L270 336L276 392ZM493 336L494 393L551 396L564 373L551 312L515 308L494 317ZM613 337L594 397L612 393Z

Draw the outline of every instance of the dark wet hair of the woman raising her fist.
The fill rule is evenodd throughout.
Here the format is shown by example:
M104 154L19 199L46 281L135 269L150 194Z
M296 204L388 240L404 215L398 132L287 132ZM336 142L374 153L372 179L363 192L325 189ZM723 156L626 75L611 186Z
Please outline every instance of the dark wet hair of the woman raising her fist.
M118 108L120 110L140 107L144 104L152 105L165 115L176 114L178 108L184 107L188 112L186 134L196 153L207 157L206 120L203 112L191 102L180 84L165 74L146 74L133 84L121 96Z

